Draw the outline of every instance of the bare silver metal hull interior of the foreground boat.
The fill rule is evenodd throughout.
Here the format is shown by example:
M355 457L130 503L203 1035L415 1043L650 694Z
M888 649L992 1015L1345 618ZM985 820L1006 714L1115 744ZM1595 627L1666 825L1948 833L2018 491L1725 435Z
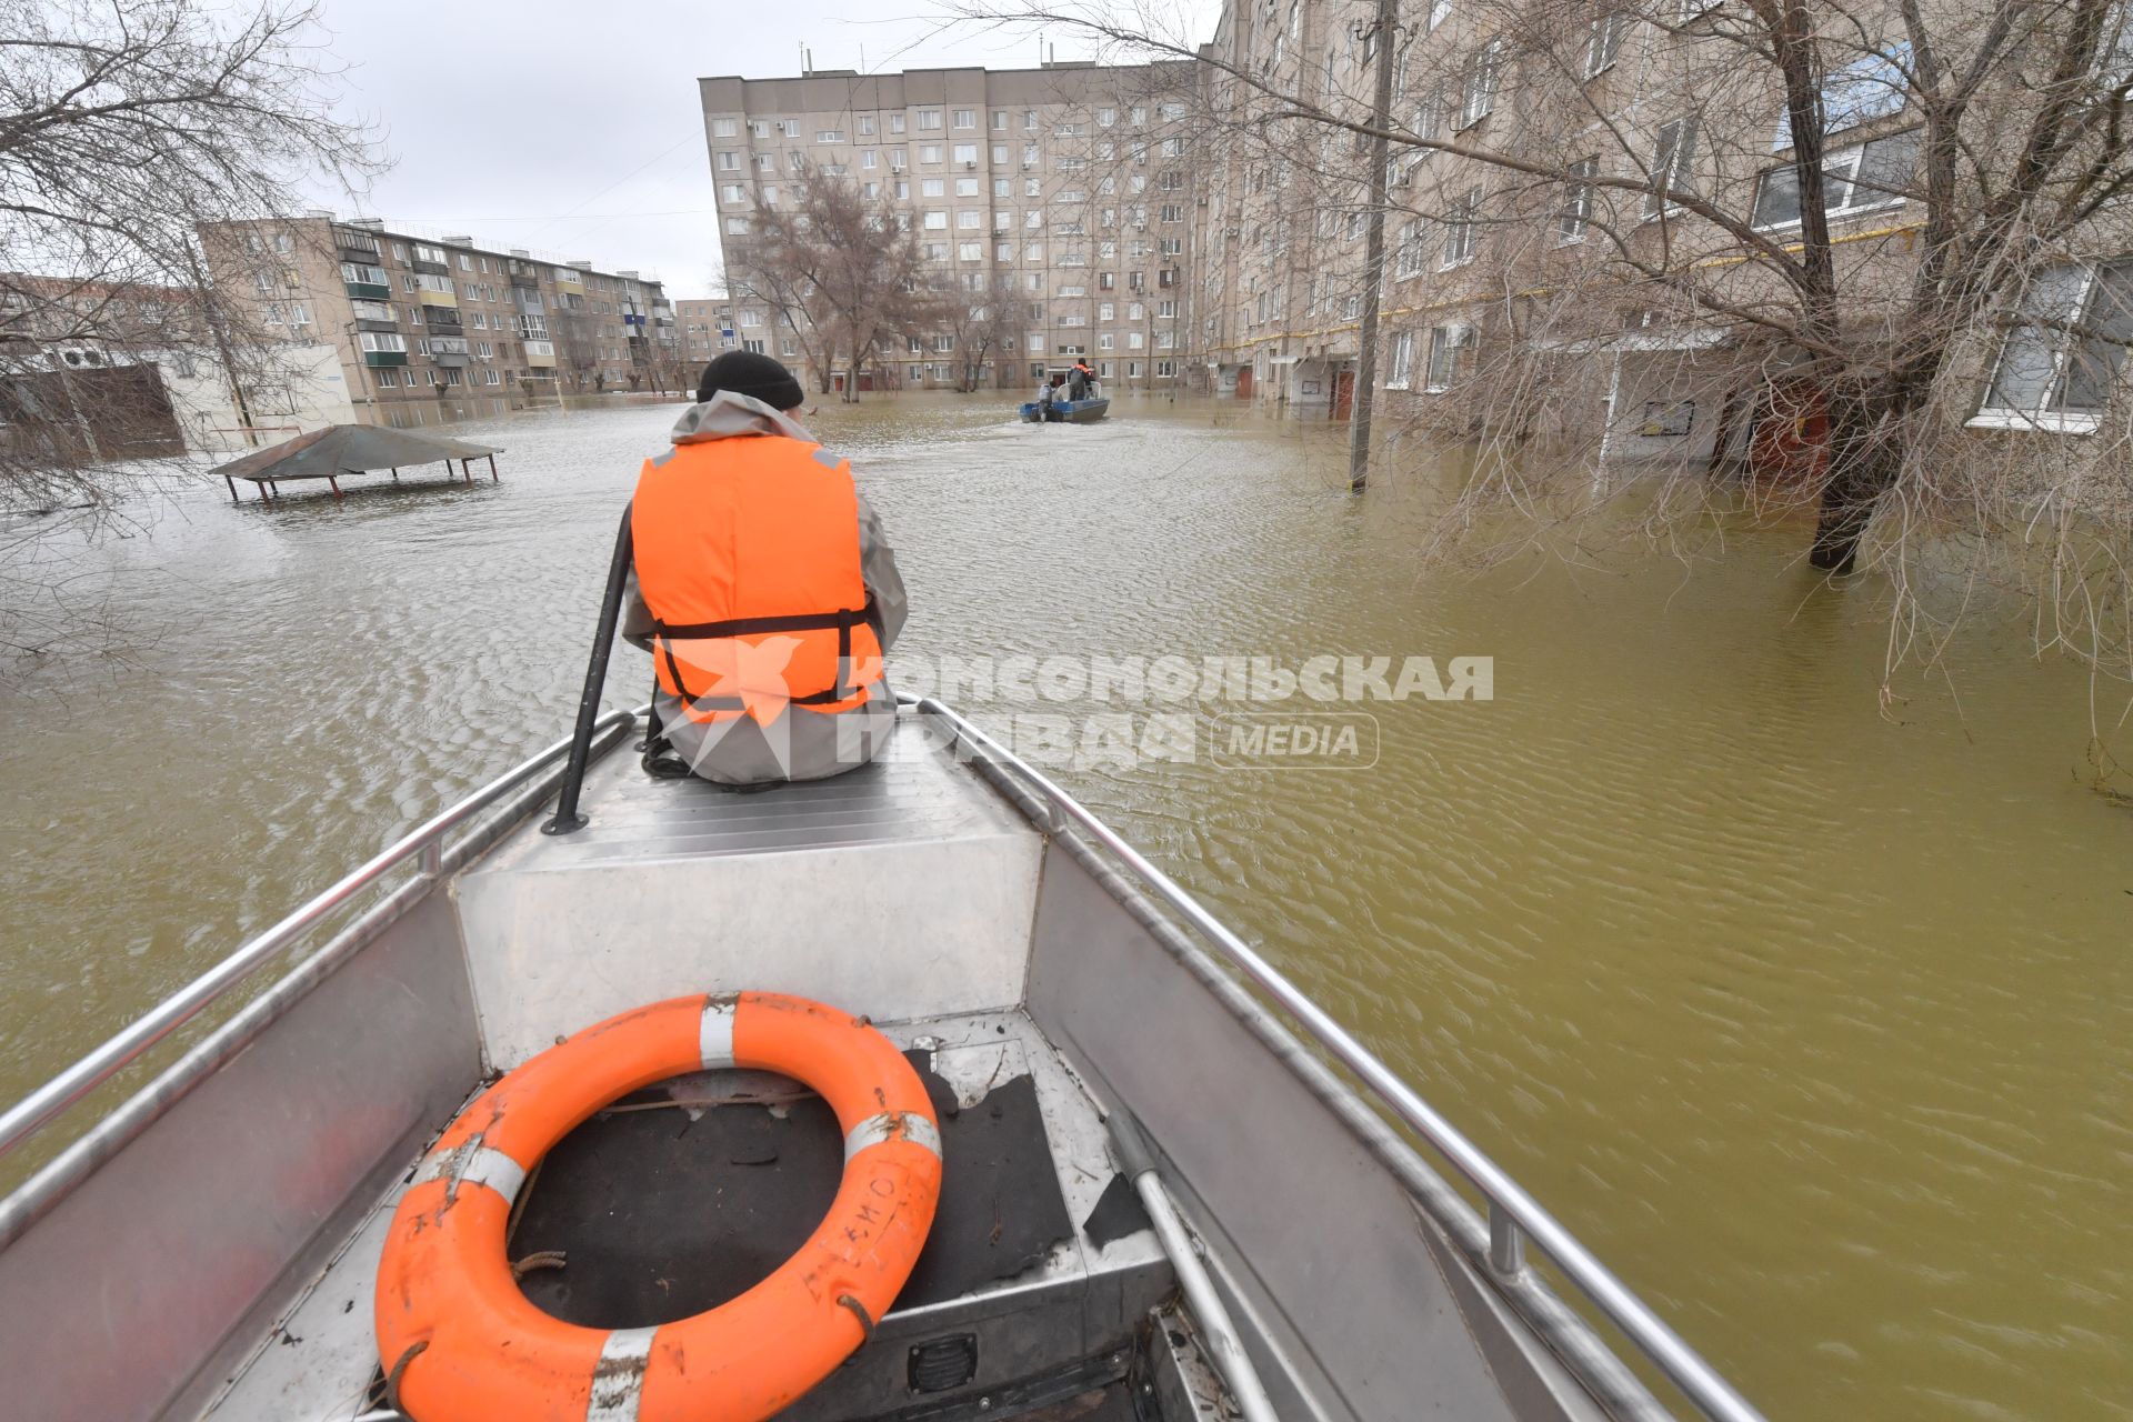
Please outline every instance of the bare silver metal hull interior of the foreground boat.
M998 1418L1126 1386L1165 1422L1212 1418L1201 1324L1154 1313L1169 1256L1090 1224L1118 1179L1105 1113L1154 1138L1278 1416L1668 1416L1536 1271L1489 1266L1480 1217L1194 915L1135 887L1143 861L1077 806L1069 827L1030 767L973 759L975 727L909 712L881 763L764 795L644 778L612 755L629 736L602 723L587 829L540 834L538 763L476 795L484 814L439 817L399 846L412 876L0 1202L11 1409L356 1416L382 1219L454 1111L614 1011L753 987L870 1015L973 1106L1026 1074L1073 1224L1009 1279L900 1303L793 1418ZM971 1373L913 1392L913 1350L945 1339L973 1339Z

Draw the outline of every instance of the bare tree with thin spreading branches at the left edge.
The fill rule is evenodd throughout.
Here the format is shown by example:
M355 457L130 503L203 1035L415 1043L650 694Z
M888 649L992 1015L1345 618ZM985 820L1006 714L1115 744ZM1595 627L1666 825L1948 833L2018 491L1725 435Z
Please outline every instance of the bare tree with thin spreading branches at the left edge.
M141 478L100 435L166 399L158 367L213 371L239 409L286 379L267 288L209 281L198 228L284 220L307 183L375 171L328 81L307 2L0 0L0 516L32 516L17 542ZM17 614L4 635L30 650L64 627L64 610Z

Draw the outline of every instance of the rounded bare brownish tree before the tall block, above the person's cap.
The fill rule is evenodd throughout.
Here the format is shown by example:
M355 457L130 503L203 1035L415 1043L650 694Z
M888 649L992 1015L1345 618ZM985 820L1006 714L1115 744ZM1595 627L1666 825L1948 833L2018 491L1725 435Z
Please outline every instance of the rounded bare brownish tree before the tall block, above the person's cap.
M883 343L926 309L924 252L911 215L857 183L802 173L793 203L757 209L736 252L736 286L791 320L823 354L817 371L843 362L845 401L860 399L860 371Z

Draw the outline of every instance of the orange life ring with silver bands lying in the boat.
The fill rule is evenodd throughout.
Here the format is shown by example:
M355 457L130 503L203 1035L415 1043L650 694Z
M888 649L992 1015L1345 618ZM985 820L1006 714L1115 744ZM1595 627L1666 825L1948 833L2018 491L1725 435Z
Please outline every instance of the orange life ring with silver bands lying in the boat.
M753 1066L808 1083L845 1132L828 1217L776 1273L657 1328L580 1328L512 1279L527 1170L638 1087ZM941 1196L941 1124L864 1021L806 998L674 998L610 1017L486 1089L401 1196L378 1266L378 1356L420 1422L759 1422L843 1362L896 1300Z

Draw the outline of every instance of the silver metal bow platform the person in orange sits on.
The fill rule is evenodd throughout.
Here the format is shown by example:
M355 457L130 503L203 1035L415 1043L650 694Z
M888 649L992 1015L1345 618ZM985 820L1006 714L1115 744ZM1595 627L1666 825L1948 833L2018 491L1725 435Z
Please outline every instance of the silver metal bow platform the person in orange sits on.
M785 991L875 1021L1020 1006L1043 836L904 716L761 793L595 763L584 829L523 825L454 885L495 1070L614 1013Z

